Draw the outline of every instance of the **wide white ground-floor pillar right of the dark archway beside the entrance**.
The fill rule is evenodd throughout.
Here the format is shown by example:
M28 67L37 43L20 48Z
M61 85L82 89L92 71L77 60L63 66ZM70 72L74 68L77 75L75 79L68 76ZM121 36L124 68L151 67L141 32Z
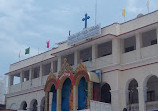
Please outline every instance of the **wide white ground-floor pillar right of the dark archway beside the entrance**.
M111 90L111 105L112 111L121 111L120 102L122 99L119 98L119 90Z

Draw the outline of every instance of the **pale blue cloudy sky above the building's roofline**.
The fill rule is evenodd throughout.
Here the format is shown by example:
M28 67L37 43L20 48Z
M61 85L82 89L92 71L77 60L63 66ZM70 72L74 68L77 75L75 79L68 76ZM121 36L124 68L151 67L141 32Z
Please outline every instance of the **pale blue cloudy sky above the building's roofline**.
M101 27L147 14L147 0L97 0L97 24ZM0 0L0 77L9 66L20 60L47 51L71 34L84 28L82 18L88 13L88 27L95 25L96 0ZM149 11L158 10L158 0L150 0ZM30 54L25 49L30 47Z

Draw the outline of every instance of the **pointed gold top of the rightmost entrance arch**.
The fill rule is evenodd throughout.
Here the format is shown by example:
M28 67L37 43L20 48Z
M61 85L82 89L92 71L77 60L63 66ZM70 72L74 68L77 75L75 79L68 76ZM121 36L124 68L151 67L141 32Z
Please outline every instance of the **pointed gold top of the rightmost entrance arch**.
M82 63L80 63L80 65L76 69L75 76L74 76L76 86L78 86L80 79L82 77L85 78L86 82L90 81L90 77L89 77L86 66L84 66Z

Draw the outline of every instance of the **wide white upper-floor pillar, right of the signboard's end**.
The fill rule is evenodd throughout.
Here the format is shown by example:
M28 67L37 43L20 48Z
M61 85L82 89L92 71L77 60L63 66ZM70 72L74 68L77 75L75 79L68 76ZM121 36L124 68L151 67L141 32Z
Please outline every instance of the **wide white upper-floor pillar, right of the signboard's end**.
M120 39L115 37L112 40L113 64L120 64L120 56L121 56Z

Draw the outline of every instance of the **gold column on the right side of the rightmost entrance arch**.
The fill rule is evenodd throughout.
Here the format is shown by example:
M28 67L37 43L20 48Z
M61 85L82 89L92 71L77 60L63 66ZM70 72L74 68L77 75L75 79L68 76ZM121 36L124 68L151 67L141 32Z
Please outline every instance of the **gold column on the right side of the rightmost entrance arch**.
M93 99L93 82L88 82L88 98L87 98L88 109L90 109L90 100L92 99Z

